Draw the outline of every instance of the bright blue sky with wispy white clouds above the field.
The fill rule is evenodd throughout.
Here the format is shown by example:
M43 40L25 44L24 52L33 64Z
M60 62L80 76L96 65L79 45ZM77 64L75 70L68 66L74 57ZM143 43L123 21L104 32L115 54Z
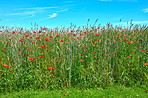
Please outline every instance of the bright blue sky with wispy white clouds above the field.
M49 28L107 22L148 24L148 0L1 0L0 25L30 27L31 22Z

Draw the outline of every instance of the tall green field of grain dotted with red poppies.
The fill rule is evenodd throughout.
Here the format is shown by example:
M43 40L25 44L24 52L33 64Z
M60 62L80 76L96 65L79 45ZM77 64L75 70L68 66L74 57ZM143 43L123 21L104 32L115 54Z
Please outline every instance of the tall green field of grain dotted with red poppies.
M148 87L148 27L107 24L0 33L0 93Z

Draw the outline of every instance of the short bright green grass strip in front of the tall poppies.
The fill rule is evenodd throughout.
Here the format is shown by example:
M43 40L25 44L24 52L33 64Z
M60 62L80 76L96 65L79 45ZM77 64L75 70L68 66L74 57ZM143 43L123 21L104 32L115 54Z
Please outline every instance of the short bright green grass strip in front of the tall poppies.
M148 98L144 88L108 87L105 89L29 90L2 94L1 98Z

